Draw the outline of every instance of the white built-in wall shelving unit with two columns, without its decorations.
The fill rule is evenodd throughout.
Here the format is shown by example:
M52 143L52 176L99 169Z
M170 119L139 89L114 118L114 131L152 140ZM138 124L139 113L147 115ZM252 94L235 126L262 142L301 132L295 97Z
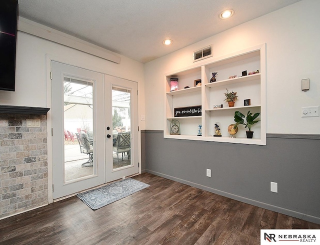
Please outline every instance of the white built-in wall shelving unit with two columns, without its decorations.
M265 145L265 43L241 50L219 58L208 58L190 67L164 74L164 130L165 138L190 140L205 140L230 143ZM259 73L241 76L242 71L259 70ZM218 72L215 82L209 82L212 72ZM237 75L228 79L229 76ZM170 78L178 78L179 89L170 91ZM201 86L194 86L194 80L201 79ZM188 88L184 88L189 86ZM236 91L238 99L234 107L228 107L224 92ZM244 100L250 99L250 105L244 105ZM223 105L222 108L216 107ZM201 105L200 116L175 116L174 108ZM246 138L244 125L238 125L238 132L230 137L228 125L235 123L234 111L246 115L259 112L260 121L252 126L253 138ZM180 124L180 134L170 134L170 123L177 119ZM221 135L215 133L214 123L220 125ZM198 125L202 126L201 136L198 136Z

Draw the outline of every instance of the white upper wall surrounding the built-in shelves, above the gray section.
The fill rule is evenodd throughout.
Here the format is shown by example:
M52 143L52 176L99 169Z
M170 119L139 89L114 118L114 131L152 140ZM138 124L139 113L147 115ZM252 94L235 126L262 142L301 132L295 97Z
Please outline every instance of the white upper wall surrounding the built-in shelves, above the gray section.
M301 0L146 63L146 129L163 129L163 74L192 65L194 50L212 44L214 58L265 42L266 132L319 134L320 117L300 117L301 106L320 105L318 9L320 1Z

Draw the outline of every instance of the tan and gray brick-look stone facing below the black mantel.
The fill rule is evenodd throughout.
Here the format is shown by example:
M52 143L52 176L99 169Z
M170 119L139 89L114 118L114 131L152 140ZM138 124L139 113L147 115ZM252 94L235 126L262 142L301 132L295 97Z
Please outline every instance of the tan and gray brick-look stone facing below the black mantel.
M46 115L0 113L0 218L48 203L46 140Z

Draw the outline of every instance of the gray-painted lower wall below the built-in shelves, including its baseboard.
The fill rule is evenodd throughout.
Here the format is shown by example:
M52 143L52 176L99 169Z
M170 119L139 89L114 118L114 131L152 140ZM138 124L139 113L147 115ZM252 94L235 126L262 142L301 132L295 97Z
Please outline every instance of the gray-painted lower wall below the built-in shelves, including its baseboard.
M142 172L320 223L320 135L270 133L266 145L248 145L142 130L141 146Z

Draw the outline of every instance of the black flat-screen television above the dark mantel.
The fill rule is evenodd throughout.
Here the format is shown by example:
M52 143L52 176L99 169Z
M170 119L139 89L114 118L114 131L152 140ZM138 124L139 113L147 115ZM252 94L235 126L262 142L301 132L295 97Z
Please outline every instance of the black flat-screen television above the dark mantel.
M17 0L0 0L0 90L14 91Z

